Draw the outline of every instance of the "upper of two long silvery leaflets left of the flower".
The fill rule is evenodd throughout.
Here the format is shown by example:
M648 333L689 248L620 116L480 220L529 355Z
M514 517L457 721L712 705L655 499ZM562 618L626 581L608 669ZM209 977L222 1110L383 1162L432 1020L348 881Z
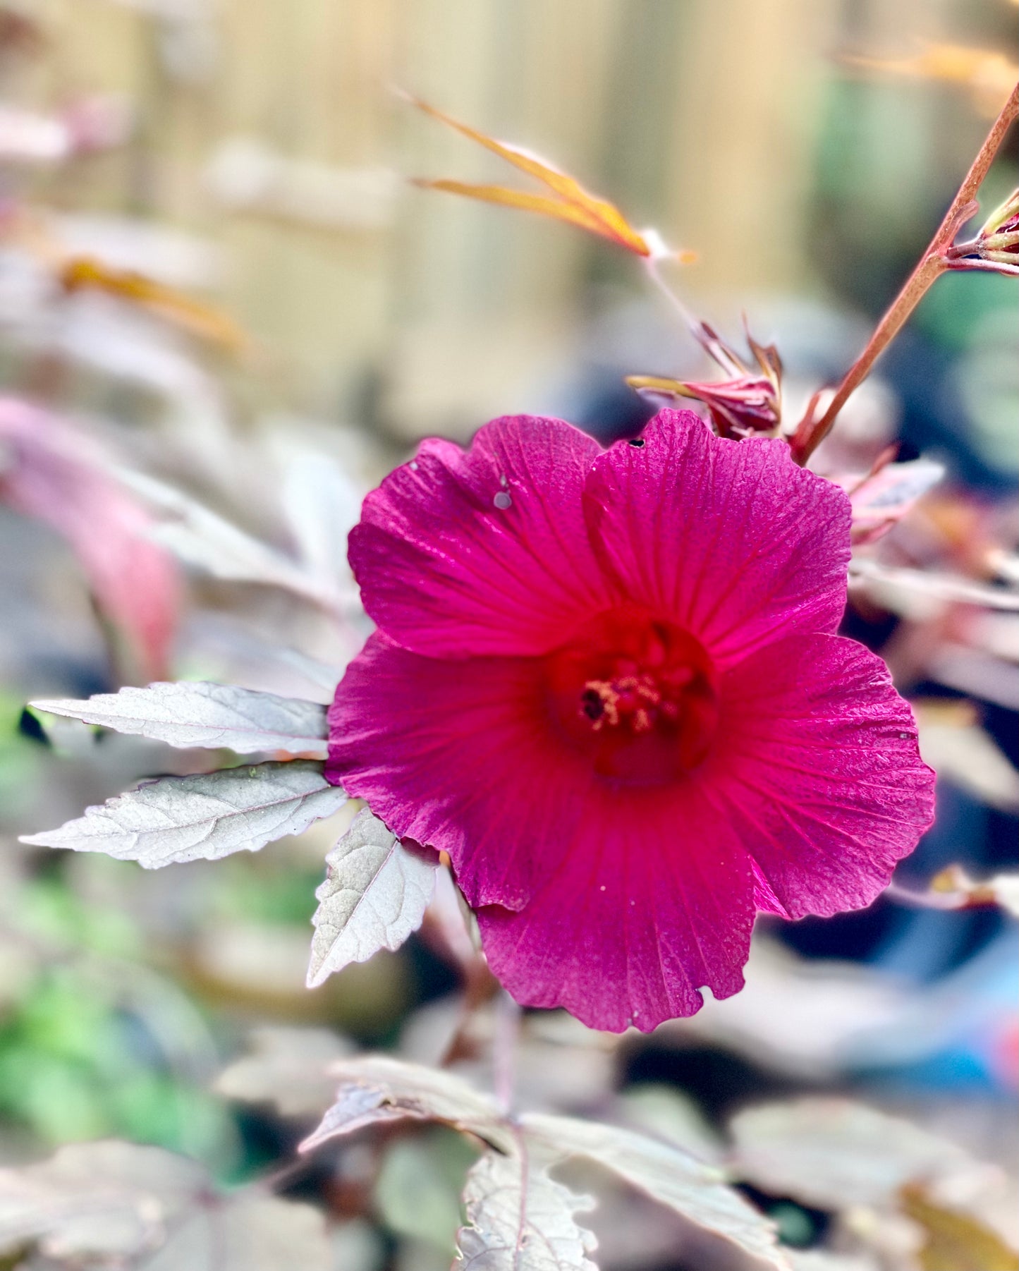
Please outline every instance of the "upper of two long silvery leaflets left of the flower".
M229 684L150 684L97 693L84 702L47 698L30 705L170 746L225 747L239 755L282 750L321 758L328 750L325 707Z

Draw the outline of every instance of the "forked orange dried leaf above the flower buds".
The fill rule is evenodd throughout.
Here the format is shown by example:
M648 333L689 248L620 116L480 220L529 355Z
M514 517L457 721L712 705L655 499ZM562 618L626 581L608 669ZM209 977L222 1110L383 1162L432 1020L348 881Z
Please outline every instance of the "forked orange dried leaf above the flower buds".
M462 136L469 137L490 150L501 159L511 163L527 175L536 178L553 193L529 194L526 191L511 189L506 186L471 186L457 180L421 180L419 186L431 189L445 189L454 194L464 194L468 198L478 198L487 203L501 203L504 207L520 207L531 212L540 212L543 216L551 216L555 220L568 221L579 225L582 229L610 239L635 255L657 255L656 247L648 241L644 234L639 234L620 212L620 210L605 198L598 198L590 193L567 173L553 168L536 155L529 154L520 146L510 145L504 141L496 141L484 132L454 119L442 111L437 111L427 102L421 102L414 97L408 98L413 105L433 119L455 128ZM680 259L689 259L690 253L677 253Z

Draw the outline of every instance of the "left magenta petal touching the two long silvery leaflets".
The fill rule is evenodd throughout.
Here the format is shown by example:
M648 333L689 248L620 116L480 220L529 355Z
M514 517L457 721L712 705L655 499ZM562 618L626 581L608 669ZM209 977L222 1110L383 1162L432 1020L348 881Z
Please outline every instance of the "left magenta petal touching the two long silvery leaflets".
M329 709L325 775L449 852L471 905L526 904L592 777L549 727L535 658L410 653L376 632Z

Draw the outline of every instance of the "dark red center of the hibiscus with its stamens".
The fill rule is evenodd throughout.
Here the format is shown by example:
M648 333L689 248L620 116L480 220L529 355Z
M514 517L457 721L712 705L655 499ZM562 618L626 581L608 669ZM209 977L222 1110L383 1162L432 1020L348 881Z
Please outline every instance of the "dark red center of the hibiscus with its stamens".
M675 623L611 609L546 665L553 718L600 777L657 785L705 758L718 724L714 667Z

